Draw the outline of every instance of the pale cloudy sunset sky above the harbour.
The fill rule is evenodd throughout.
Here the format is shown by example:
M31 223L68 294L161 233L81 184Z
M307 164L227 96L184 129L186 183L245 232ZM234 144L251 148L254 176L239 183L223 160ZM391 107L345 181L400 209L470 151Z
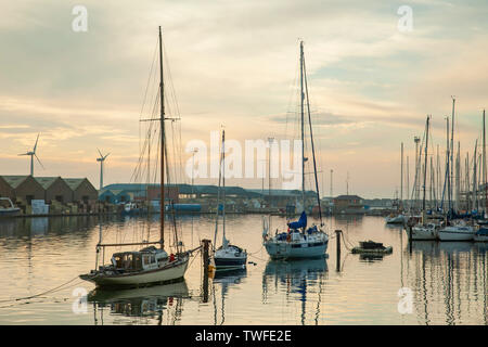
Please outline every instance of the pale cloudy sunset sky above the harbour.
M86 33L72 28L78 4L88 10ZM398 29L401 5L412 9L411 31ZM40 132L44 169L36 166L35 175L88 177L98 187L99 147L111 153L104 183L129 182L159 25L183 147L193 139L209 142L221 125L243 147L245 140L295 136L298 42L305 41L326 195L333 169L334 195L346 193L349 172L349 193L393 197L400 143L412 169L413 137L422 136L427 114L444 153L451 95L463 155L481 131L486 1L24 0L3 1L0 12L2 175L28 174L29 160L18 154ZM228 184L260 188L261 180Z

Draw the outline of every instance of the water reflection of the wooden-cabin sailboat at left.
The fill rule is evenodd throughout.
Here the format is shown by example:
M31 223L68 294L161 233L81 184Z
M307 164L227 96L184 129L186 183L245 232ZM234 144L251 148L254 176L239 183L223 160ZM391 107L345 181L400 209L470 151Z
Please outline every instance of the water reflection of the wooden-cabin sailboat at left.
M88 294L88 303L93 304L95 325L103 325L103 312L107 308L110 316L116 317L110 324L151 324L150 320L156 320L157 324L175 324L181 318L183 299L189 297L187 282L182 280L141 288L95 288ZM168 321L163 322L165 317ZM126 318L132 319L127 321Z

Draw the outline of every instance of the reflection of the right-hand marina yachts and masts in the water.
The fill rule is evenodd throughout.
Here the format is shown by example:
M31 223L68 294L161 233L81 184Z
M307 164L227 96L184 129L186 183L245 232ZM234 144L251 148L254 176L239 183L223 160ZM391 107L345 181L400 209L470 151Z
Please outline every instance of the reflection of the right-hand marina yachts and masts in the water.
M466 242L414 242L412 248L406 285L419 322L487 325L487 248Z

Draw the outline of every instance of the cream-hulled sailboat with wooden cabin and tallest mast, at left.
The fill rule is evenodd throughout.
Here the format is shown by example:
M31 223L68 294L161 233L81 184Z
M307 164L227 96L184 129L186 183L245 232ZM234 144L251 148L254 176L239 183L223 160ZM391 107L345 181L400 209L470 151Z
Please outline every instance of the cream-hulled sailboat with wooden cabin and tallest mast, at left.
M99 257L97 256L95 269L89 273L81 274L80 279L94 283L98 287L106 286L144 286L156 283L168 283L182 280L187 271L190 255L193 250L182 250L182 243L176 242L176 252L168 254L165 250L165 103L164 103L164 80L163 80L163 44L159 27L159 97L160 97L160 226L159 241L141 243L102 243L102 230L97 245L97 255L102 249L105 254L105 247L120 246L143 246L142 249L131 252L114 253L111 264L102 265L97 268ZM176 221L171 230L176 234ZM177 237L175 237L177 239ZM154 245L159 245L157 248ZM104 260L104 259L103 259ZM103 261L102 260L102 261Z

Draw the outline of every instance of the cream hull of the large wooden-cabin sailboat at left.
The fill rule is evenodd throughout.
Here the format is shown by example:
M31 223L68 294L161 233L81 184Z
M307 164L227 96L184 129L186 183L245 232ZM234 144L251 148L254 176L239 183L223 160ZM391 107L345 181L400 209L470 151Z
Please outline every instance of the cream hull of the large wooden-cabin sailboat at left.
M121 274L81 274L80 278L98 287L137 287L181 280L188 268L189 257L170 262L159 269Z

